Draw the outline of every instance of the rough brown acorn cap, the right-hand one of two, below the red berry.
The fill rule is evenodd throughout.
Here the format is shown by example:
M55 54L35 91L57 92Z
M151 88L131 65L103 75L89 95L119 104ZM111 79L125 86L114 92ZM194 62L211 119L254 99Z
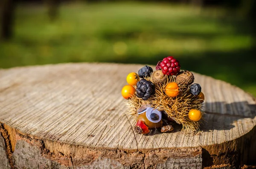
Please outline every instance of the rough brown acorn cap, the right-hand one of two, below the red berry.
M192 72L184 70L177 74L176 83L178 83L179 85L189 86L194 82L194 79L195 77Z

